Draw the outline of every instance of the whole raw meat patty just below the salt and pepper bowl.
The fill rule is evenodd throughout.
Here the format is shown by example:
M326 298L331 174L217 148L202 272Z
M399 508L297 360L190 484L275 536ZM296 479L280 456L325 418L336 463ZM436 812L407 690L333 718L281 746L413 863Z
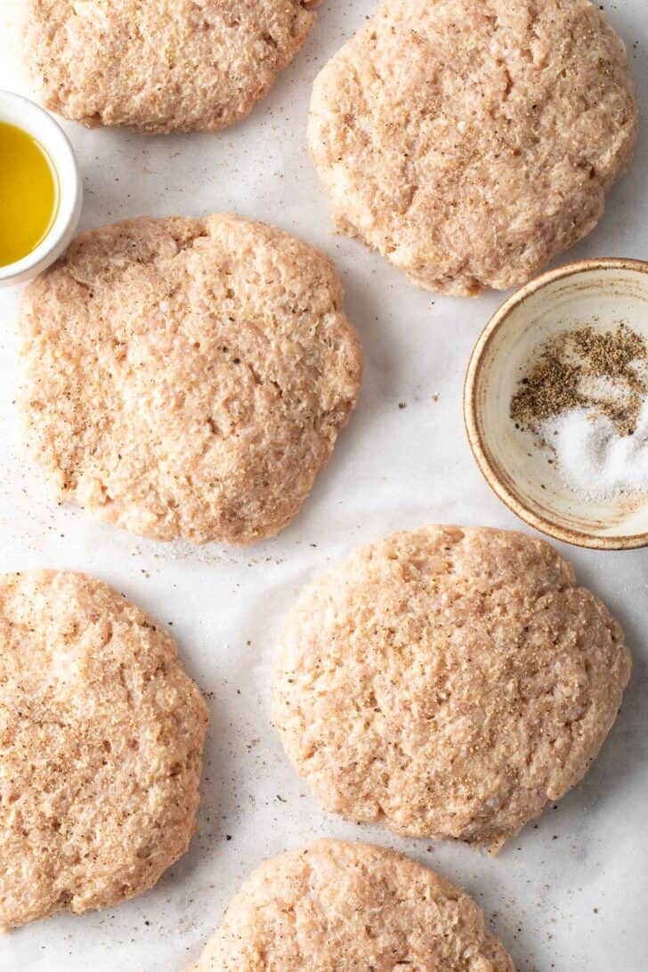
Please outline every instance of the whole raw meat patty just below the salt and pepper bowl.
M429 527L305 590L273 720L326 810L496 850L581 779L630 672L619 625L548 543Z

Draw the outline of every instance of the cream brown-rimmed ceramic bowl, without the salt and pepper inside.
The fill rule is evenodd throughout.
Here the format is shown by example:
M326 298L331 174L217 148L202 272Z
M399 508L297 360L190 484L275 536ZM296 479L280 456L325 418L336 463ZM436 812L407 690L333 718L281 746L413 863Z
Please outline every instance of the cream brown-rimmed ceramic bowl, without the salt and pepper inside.
M548 337L583 324L610 330L622 320L648 339L648 262L585 260L551 270L496 311L463 392L470 447L499 499L536 530L597 549L648 545L648 493L580 499L515 430L509 407L523 366Z

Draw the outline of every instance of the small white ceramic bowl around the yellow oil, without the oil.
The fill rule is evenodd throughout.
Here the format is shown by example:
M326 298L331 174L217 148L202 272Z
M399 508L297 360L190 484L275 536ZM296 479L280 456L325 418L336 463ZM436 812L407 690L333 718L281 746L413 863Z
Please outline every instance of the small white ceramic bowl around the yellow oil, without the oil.
M31 280L60 257L79 224L84 192L72 146L43 108L19 94L0 90L0 121L17 125L40 142L56 170L59 191L58 212L47 236L22 260L0 266L3 287Z

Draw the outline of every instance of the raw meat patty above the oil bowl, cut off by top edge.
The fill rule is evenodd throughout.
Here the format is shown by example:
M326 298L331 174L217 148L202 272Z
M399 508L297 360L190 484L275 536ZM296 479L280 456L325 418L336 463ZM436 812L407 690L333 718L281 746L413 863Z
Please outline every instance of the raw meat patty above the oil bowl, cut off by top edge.
M313 26L309 0L28 0L47 108L85 124L218 131L244 118Z

